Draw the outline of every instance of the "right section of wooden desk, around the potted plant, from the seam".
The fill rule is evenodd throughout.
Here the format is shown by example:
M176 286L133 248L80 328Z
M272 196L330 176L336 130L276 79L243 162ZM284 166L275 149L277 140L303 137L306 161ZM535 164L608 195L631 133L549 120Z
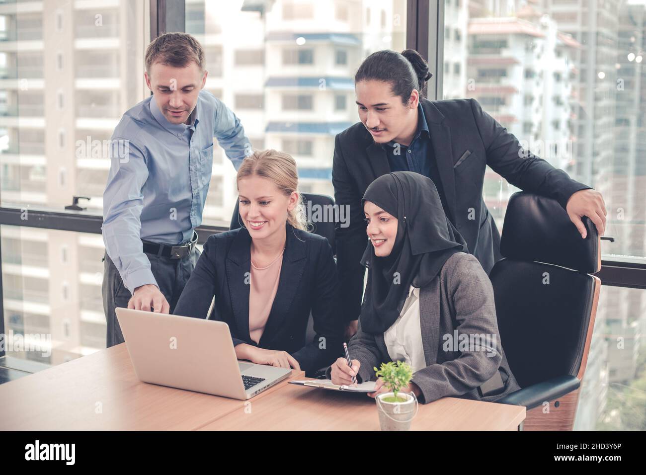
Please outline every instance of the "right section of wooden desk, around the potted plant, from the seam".
M525 407L444 397L419 405L412 430L517 430ZM366 394L283 386L199 430L379 430L375 400Z

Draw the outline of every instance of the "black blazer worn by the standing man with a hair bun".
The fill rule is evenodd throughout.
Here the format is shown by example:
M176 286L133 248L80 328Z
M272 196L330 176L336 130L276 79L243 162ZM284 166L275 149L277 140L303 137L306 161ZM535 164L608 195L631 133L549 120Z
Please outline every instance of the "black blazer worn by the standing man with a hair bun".
M486 273L501 259L500 235L482 197L486 165L524 191L556 198L563 208L572 193L589 188L526 152L476 100L421 103L448 207L444 211ZM350 211L349 226L337 223L335 229L346 321L359 317L363 293L365 269L359 261L368 243L361 198L368 185L386 173L390 173L386 151L361 122L337 135L332 166L335 202L348 205Z

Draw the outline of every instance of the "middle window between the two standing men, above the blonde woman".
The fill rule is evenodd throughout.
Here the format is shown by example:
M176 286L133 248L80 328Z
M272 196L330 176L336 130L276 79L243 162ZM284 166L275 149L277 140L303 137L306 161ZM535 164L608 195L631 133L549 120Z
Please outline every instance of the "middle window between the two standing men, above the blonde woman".
M303 191L333 196L334 137L359 120L353 76L367 54L406 48L406 1L185 5L186 31L205 47L207 60L209 51L220 52L220 74L214 78L209 69L206 89L236 113L255 149L293 154ZM211 182L213 206L205 209L203 223L228 226L237 196L235 172L221 150L220 156L213 167L220 185L214 189Z

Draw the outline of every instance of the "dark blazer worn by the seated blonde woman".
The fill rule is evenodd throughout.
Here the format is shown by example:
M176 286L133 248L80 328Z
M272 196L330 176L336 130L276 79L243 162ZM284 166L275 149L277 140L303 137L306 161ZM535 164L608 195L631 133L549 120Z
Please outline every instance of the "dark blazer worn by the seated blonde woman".
M174 309L175 315L206 318L215 295L212 320L226 322L233 344L247 343L291 354L313 374L342 352L339 280L332 249L324 237L287 224L280 282L260 342L249 336L251 236L242 227L212 235ZM316 337L305 341L309 313ZM322 339L323 338L323 339Z

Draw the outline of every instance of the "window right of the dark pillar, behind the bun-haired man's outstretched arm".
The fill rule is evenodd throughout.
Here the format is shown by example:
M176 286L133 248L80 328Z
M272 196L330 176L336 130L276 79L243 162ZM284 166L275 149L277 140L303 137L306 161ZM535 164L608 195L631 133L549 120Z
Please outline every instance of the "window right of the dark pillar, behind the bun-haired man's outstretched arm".
M583 15L579 15L583 12ZM590 16L597 29L590 29ZM603 259L646 263L644 2L444 2L443 98L474 98L523 145L603 194ZM448 35L446 36L448 38ZM459 152L461 153L461 152ZM487 168L499 228L517 191ZM604 286L576 428L646 428L646 291ZM639 414L639 417L636 415Z

